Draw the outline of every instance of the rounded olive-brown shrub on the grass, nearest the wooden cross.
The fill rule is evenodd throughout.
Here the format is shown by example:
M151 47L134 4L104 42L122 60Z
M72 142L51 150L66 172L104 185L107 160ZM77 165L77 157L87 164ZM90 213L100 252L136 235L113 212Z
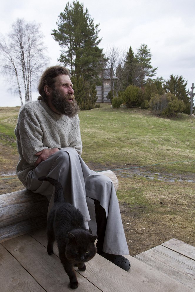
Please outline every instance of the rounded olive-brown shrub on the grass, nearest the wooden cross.
M174 94L153 95L149 101L150 110L159 116L172 117L178 112L183 112L185 104Z

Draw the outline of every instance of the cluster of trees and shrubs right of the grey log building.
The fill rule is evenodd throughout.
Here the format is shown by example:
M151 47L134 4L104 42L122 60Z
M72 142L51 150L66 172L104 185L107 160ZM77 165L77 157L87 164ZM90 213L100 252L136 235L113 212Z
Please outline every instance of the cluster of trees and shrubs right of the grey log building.
M126 56L123 55L114 47L107 51L107 70L114 81L107 98L114 108L119 108L121 104L128 108L149 108L160 116L190 113L187 82L182 76L173 75L168 80L162 77L155 79L157 68L151 66L152 54L147 45L141 44L135 55L130 47Z

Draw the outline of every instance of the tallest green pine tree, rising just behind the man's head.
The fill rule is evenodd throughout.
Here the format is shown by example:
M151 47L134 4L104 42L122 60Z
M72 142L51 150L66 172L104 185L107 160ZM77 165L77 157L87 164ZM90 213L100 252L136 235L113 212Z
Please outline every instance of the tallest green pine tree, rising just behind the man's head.
M84 10L83 4L73 1L72 4L69 2L66 4L64 12L59 15L57 26L58 30L52 30L52 35L62 48L59 61L70 69L71 76L76 82L74 90L78 97L80 95L79 99L81 96L86 99L87 94L84 96L82 90L80 91L81 79L85 81L86 92L92 94L90 87L98 82L102 70L103 54L102 49L98 47L101 41L98 38L99 24L94 25L94 20L88 9ZM91 98L91 102L92 100L94 98ZM81 102L81 108L87 103Z

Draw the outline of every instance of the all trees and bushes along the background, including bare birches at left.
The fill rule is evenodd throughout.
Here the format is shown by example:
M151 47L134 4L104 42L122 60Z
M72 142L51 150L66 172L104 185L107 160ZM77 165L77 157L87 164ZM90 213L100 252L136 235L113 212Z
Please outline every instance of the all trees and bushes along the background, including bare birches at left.
M187 82L182 76L155 78L157 68L151 65L152 54L146 44L141 44L136 54L131 47L128 52L114 46L104 51L99 47L98 34L99 24L94 24L88 9L79 1L66 4L57 29L51 32L61 47L58 62L70 70L81 110L96 106L96 86L102 85L106 69L111 86L108 99L113 107L139 106L165 116L189 114ZM10 88L19 94L21 104L22 91L25 102L31 100L32 86L49 61L39 25L18 19L6 37L1 35L0 58L3 73L10 79Z

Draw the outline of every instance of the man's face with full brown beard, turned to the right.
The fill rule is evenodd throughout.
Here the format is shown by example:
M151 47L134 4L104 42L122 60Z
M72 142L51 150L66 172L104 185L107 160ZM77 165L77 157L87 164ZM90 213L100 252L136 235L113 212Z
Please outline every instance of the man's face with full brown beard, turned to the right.
M51 103L59 114L65 114L69 117L78 114L80 109L73 94L70 77L68 75L57 76L51 93Z

